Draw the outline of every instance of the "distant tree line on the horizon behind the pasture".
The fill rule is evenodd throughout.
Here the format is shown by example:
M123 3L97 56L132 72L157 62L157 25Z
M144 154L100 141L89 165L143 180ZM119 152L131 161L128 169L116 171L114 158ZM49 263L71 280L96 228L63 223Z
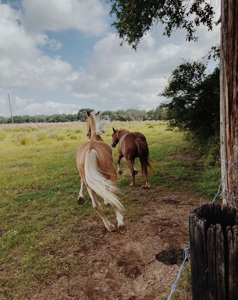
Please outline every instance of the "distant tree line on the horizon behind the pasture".
M19 123L58 123L58 122L74 122L86 121L86 111L92 112L92 109L80 109L77 114L54 114L54 115L38 115L38 116L13 116L13 121ZM138 108L117 110L117 111L104 111L100 116L102 119L110 121L147 121L147 120L165 120L166 108L158 106L149 111L139 110ZM0 117L0 124L12 123L12 117Z

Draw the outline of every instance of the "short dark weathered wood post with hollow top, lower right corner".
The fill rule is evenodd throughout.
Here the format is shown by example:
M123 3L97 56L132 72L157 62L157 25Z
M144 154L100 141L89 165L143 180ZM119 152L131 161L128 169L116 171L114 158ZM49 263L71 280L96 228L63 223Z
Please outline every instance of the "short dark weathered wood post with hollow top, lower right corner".
M203 204L189 216L193 300L238 298L238 210Z

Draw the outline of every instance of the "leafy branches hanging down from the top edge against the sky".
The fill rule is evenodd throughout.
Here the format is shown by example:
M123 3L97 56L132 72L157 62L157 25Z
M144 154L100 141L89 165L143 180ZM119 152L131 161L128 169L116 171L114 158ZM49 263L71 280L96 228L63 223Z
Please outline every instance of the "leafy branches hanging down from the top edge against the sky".
M146 32L158 23L165 24L164 35L170 36L177 28L185 29L186 40L196 40L196 27L205 25L212 30L214 8L209 1L193 0L107 0L110 15L118 36L137 49ZM121 43L123 44L123 42Z

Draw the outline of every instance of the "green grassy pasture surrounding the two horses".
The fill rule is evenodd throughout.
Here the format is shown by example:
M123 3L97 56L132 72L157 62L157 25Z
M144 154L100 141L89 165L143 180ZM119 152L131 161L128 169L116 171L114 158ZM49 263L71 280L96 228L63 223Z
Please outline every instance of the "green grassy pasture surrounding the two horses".
M164 122L113 122L102 136L111 143L112 126L140 131L147 137L152 170L150 184L161 189L201 194L217 187L212 175L201 181L201 159L181 159L182 135ZM78 147L88 141L83 123L32 124L0 127L0 298L24 298L28 290L38 288L48 278L74 274L83 268L82 257L67 256L68 245L77 244L85 231L80 220L98 218L90 201L78 206L80 180L75 156ZM113 149L114 158L117 147ZM136 167L140 169L137 161ZM121 168L128 171L122 160ZM127 215L137 218L130 206L127 190L130 173L118 176L125 190L121 198ZM136 185L144 178L136 176ZM84 191L87 200L89 197ZM104 207L109 218L110 208ZM113 223L114 220L113 220ZM101 222L101 226L103 223ZM57 259L52 253L58 253Z

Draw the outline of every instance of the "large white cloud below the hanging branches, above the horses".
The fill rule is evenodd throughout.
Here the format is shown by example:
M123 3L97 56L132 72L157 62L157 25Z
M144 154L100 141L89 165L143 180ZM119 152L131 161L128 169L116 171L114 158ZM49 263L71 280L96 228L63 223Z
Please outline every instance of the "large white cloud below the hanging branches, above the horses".
M71 76L67 85L71 96L84 96L85 102L99 110L126 109L158 105L157 96L167 84L171 71L182 59L198 59L219 41L219 28L207 34L198 29L198 43L160 38L161 32L148 34L135 52L126 43L120 47L115 34L108 33L94 45L89 65ZM182 33L180 33L182 35ZM160 39L160 43L157 39ZM90 105L86 105L90 106Z

